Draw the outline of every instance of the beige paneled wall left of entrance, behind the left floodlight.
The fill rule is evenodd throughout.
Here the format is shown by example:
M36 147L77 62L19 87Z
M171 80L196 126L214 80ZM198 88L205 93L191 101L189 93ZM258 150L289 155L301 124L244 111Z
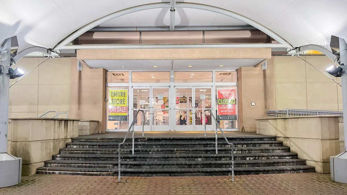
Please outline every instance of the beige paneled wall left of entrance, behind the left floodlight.
M22 58L11 68L20 67L26 73L45 59ZM9 118L39 117L49 110L69 112L70 65L71 58L49 59L13 85L10 88ZM15 80L11 79L10 83Z

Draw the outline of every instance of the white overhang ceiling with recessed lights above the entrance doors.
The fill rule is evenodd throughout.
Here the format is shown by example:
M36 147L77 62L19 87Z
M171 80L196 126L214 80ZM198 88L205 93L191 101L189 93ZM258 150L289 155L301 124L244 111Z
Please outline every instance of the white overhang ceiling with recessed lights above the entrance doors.
M84 60L92 68L120 70L235 70L255 66L264 59L213 59L213 60ZM157 66L157 67L153 67ZM193 66L193 67L188 67Z

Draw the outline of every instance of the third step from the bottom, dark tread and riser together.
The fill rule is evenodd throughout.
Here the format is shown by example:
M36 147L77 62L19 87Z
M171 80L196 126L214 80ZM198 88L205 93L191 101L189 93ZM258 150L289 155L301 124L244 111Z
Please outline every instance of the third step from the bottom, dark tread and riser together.
M55 154L53 160L118 161L118 154ZM121 161L229 161L231 154L122 154ZM234 154L234 160L297 159L297 153Z

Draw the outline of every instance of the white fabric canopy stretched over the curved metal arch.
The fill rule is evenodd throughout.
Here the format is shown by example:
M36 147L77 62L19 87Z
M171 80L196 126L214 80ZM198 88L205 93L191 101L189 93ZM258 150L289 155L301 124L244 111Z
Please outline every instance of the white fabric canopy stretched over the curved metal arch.
M166 2L168 0L162 0ZM160 0L2 0L0 43L17 36L19 51L32 46L54 48L84 25L122 9ZM178 1L178 0L177 0ZM294 47L321 45L330 50L331 35L347 40L347 0L185 0L246 16L277 33ZM169 25L169 9L124 15L101 27ZM237 19L211 11L177 8L177 26L240 26Z

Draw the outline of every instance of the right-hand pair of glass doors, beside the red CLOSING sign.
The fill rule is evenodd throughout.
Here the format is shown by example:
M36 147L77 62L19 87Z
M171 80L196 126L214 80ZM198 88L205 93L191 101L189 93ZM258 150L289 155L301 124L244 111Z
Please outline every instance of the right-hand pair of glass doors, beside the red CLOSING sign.
M212 131L212 87L175 87L175 131Z

